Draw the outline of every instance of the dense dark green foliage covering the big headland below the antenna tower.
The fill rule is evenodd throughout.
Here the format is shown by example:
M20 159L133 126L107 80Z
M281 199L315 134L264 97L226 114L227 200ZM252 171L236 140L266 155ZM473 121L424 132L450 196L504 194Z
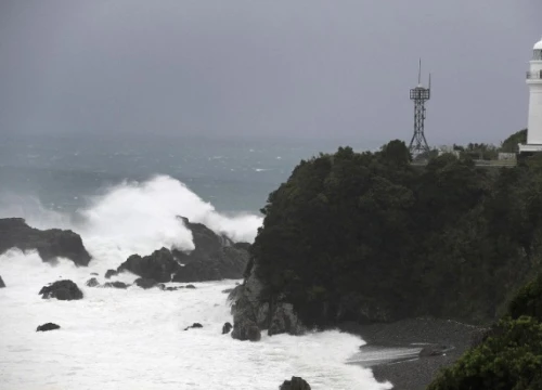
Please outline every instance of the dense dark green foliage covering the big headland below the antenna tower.
M410 165L400 141L301 161L270 194L251 251L263 299L308 325L433 314L496 318L539 252L542 164Z

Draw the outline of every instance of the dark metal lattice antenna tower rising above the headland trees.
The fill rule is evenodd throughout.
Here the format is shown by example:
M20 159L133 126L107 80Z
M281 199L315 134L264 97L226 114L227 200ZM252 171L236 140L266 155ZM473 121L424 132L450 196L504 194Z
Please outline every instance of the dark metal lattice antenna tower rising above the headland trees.
M417 69L417 87L410 90L410 100L414 102L414 134L410 141L409 150L413 156L429 152L425 139L425 102L431 98L431 74L429 74L428 88L422 86L422 60Z

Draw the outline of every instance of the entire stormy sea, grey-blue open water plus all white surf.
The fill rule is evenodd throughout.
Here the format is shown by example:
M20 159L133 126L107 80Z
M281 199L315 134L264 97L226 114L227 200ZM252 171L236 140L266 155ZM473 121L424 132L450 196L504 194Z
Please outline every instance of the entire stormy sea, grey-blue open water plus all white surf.
M331 142L12 136L0 145L0 218L37 229L70 229L92 256L88 268L37 252L0 256L0 378L4 389L278 389L301 376L312 389L389 389L369 365L352 364L364 341L338 330L259 342L222 335L231 322L223 291L242 281L195 283L175 291L91 288L133 253L191 249L176 216L234 242L251 242L268 194L302 158ZM131 283L137 275L119 274ZM70 280L85 298L41 299L42 286ZM178 285L169 283L168 286ZM40 324L61 332L37 333ZM193 323L202 328L183 332ZM357 358L358 356L358 358ZM375 359L380 359L376 356Z

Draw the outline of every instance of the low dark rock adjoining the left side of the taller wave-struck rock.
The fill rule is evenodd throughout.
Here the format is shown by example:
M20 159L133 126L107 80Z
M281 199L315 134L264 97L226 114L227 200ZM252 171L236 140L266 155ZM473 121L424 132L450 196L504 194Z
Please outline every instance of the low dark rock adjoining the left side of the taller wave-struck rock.
M155 280L157 283L171 282L171 274L181 266L173 259L171 251L167 248L155 250L150 256L130 256L117 269L117 272L130 271L136 275Z

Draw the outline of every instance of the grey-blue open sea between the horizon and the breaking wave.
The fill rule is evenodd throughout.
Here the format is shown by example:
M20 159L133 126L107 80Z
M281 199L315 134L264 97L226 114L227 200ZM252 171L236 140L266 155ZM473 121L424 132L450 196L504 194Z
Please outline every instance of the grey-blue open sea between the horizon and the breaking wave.
M125 180L167 174L221 212L258 212L301 159L347 144L378 146L363 140L11 135L0 144L0 199L33 197L48 209L72 212Z

